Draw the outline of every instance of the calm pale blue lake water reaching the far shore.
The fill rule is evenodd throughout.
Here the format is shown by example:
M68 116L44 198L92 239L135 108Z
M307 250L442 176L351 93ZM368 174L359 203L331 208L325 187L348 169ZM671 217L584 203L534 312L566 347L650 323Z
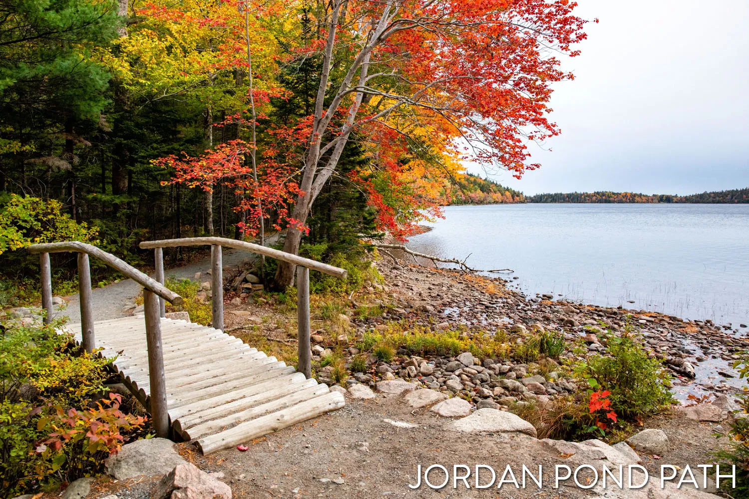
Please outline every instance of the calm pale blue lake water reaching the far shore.
M409 248L513 269L491 275L528 296L749 325L747 204L497 204L444 215Z

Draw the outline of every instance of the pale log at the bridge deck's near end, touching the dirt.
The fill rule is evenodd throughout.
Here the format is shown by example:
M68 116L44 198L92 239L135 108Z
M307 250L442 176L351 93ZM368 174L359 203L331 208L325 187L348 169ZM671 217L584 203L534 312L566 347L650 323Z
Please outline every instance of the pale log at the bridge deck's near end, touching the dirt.
M345 403L342 394L337 391L330 392L321 397L292 405L282 411L240 423L234 428L218 432L215 435L207 435L198 440L198 448L201 453L207 455L216 452L216 450L234 447L234 445L242 442L251 441L253 438L277 432L279 429L318 417L326 412L335 411L342 408Z

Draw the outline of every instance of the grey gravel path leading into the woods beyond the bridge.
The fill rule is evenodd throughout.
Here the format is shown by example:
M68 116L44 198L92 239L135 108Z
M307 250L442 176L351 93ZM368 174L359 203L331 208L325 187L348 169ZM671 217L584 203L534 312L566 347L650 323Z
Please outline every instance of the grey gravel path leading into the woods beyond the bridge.
M266 245L274 244L278 236L270 237L266 240ZM222 260L224 267L238 266L245 260L254 260L257 255L248 251L234 250L224 248ZM189 265L166 270L166 277L178 279L192 278L197 272L208 272L210 270L210 258L204 258ZM151 277L154 277L153 275ZM109 286L95 288L91 292L91 299L94 304L94 320L117 319L129 315L127 310L135 307L136 296L141 291L140 284L132 279L126 279ZM78 295L66 296L67 308L58 309L55 316L67 316L69 322L77 324L81 321L81 311L78 301Z

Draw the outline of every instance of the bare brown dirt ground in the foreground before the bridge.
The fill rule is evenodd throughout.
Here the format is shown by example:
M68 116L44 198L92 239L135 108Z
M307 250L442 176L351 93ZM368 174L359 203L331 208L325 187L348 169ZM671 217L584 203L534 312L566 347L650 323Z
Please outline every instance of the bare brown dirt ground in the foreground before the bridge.
M576 486L554 489L554 465L566 456L521 433L459 433L446 428L452 421L437 417L428 408L412 411L398 396L378 396L366 401L347 398L339 411L293 428L248 442L249 450L236 448L201 456L193 444L180 444L181 453L198 468L223 474L234 498L597 498ZM396 424L393 424L395 422ZM407 425L398 425L407 423ZM401 427L410 426L413 427ZM641 455L652 474L661 464L682 467L711 462L716 426L676 416L661 416L643 427L663 429L672 441L671 450L660 459ZM522 465L534 473L544 467L543 489L527 481L526 489L496 485L488 490L433 490L422 483L413 490L416 467L441 464L452 473L453 465L489 465L500 475L507 465L521 481ZM572 465L574 468L574 465ZM433 483L444 480L431 474ZM327 479L327 480L326 480ZM150 497L154 478L129 483L100 483L92 498L117 493L121 499ZM497 477L499 480L499 477ZM337 483L340 482L340 483ZM470 480L473 486L473 476ZM570 482L571 484L571 482ZM674 496L676 497L681 496Z

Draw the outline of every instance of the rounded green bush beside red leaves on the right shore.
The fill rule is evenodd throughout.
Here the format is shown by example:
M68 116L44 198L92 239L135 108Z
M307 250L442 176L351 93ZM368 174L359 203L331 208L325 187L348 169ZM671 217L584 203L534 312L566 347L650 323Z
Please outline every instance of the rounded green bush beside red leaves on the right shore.
M616 414L655 414L672 402L670 376L658 360L648 357L640 337L625 331L621 337L607 334L606 339L608 355L589 355L574 372L580 379L592 379L594 388L610 391Z

